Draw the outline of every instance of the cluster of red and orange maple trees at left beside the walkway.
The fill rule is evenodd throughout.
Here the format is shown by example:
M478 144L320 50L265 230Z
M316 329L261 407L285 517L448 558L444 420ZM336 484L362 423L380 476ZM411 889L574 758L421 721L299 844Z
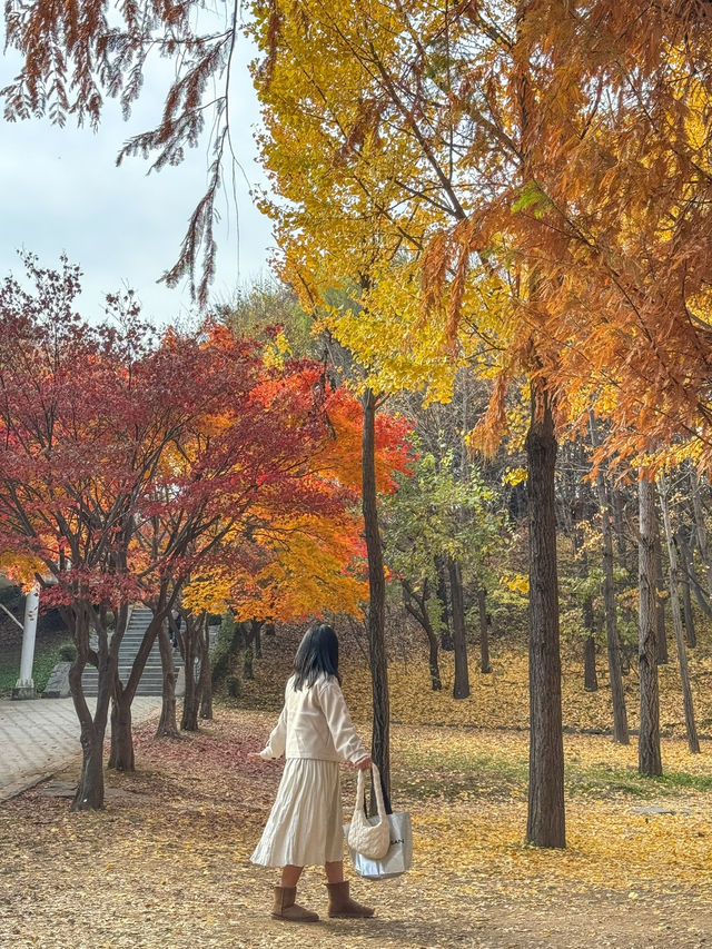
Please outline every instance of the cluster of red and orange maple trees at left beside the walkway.
M76 809L101 807L110 764L134 768L131 701L157 636L180 609L186 673L207 669L201 617L288 620L364 599L358 497L360 408L322 365L207 320L157 335L132 296L111 318L75 313L78 269L24 258L31 289L0 288L0 551L41 587L73 636L71 693L83 767ZM378 425L382 487L405 464L406 426ZM128 682L118 653L131 604L152 612ZM160 732L177 732L171 651ZM96 711L82 672L99 675ZM188 682L188 695L194 694ZM184 726L196 726L184 716Z

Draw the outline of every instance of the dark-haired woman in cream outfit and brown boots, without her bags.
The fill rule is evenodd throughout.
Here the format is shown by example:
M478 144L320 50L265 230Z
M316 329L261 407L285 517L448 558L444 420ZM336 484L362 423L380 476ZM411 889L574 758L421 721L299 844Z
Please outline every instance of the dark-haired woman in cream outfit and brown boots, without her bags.
M318 916L295 902L305 866L326 871L330 917L370 917L374 910L350 899L344 880L344 830L339 763L365 771L370 755L356 734L340 689L338 639L332 626L307 630L285 689L285 705L266 748L253 757L285 754L277 799L251 860L281 867L273 917L316 922Z

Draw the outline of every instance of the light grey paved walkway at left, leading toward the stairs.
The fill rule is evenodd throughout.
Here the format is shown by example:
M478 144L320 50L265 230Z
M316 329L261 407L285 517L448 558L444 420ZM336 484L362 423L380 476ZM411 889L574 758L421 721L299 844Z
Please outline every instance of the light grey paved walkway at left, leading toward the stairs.
M93 711L96 699L87 701ZM137 695L134 723L158 715L160 703L160 696ZM71 699L0 700L0 801L49 778L80 754Z

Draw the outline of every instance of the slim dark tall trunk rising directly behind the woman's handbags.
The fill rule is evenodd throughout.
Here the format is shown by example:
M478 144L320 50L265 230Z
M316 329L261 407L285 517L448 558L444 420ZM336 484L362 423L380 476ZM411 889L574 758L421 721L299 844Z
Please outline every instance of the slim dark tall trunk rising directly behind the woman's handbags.
M364 432L362 442L363 513L368 555L368 656L373 692L373 730L370 753L380 771L387 809L390 810L390 712L388 695L388 658L386 655L386 580L383 547L378 528L376 494L376 407L372 389L363 397ZM373 809L372 800L372 809Z

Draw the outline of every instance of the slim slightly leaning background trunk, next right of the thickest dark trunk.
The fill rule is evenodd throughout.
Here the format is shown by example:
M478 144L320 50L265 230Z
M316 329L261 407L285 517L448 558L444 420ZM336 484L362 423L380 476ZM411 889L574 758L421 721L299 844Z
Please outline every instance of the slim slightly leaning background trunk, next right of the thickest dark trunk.
M599 444L593 415L591 416L591 438L594 447ZM603 472L596 475L596 494L601 513L601 534L603 537L603 604L605 613L605 641L609 656L609 678L611 682L611 702L613 704L613 740L619 744L629 744L627 712L625 692L621 678L621 644L615 606L615 583L613 579L613 531L611 527L611 507L606 494Z

